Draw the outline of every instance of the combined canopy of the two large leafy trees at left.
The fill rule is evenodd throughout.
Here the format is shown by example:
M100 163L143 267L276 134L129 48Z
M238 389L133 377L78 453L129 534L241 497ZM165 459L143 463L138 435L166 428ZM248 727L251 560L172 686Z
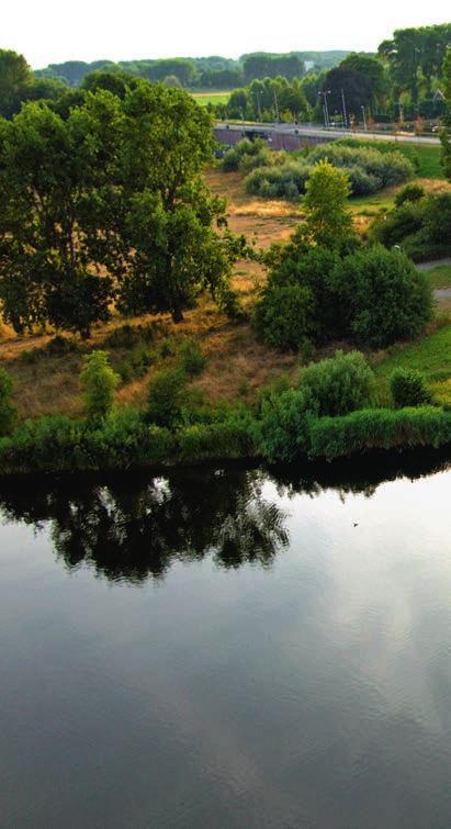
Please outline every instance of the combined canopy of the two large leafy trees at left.
M145 81L63 113L29 103L0 123L4 318L89 336L113 301L178 321L206 288L227 298L244 240L203 183L212 147L210 116L188 93Z

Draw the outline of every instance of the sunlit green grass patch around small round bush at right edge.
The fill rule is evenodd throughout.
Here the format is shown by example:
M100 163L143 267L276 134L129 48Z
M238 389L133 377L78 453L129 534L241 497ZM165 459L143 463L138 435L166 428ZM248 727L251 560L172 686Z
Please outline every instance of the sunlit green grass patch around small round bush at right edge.
M387 400L390 377L397 368L420 371L436 402L451 405L451 323L416 343L388 349L386 359L375 367L382 401Z

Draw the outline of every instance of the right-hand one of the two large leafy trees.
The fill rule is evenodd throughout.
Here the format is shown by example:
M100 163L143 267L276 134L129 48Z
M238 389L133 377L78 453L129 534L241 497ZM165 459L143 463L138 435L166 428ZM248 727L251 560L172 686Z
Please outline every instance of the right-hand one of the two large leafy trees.
M122 256L110 262L119 305L125 313L170 312L179 322L205 289L221 301L245 250L226 228L224 201L202 178L211 117L182 90L140 85L124 101L123 135Z

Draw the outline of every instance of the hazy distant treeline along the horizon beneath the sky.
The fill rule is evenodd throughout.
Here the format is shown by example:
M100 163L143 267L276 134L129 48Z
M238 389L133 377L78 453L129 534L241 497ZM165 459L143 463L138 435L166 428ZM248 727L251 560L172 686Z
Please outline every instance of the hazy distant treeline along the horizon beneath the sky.
M174 57L160 60L67 60L63 64L49 64L45 69L37 69L37 78L59 79L70 87L78 87L86 75L99 69L112 72L131 72L147 80L162 81L176 78L182 87L198 89L234 89L248 83L255 78L300 78L308 68L328 69L336 66L348 52L291 52L287 54L251 53L238 60L227 57Z

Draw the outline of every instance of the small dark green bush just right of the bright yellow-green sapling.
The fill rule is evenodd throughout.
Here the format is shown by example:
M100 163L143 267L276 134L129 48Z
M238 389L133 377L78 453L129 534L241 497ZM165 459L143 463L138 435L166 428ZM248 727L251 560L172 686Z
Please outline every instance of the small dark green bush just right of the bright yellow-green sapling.
M157 371L148 385L147 418L157 426L173 427L188 402L187 376L180 369Z

